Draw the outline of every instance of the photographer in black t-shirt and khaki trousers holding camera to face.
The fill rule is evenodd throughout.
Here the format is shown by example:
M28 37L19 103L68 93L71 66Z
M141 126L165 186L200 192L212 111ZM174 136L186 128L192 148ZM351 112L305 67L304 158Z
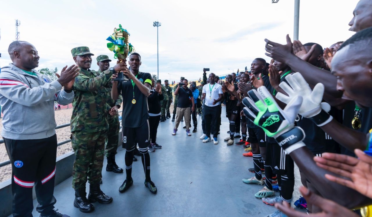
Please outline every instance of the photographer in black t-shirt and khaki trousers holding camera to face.
M172 135L176 135L178 125L183 117L185 117L185 124L186 124L186 134L190 134L190 115L191 112L194 111L195 103L192 91L187 87L189 81L187 79L183 79L183 83L180 82L177 86L177 89L174 91L174 95L178 96L178 104L176 108L176 123L174 125ZM182 86L182 87L180 87ZM190 99L191 99L191 109L190 109ZM190 111L191 110L191 111Z

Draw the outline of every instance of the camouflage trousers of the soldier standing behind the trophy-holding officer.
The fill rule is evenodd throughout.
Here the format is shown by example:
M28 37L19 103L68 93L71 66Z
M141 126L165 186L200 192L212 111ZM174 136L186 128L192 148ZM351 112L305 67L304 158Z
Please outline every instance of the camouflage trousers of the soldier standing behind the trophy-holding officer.
M107 132L105 156L110 157L116 154L119 143L119 117L118 115L109 116L109 131Z

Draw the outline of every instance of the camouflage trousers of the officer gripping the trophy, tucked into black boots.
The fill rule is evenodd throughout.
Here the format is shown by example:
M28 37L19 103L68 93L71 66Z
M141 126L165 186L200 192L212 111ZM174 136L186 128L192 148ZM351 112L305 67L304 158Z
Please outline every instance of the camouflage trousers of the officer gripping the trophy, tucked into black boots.
M102 179L103 152L107 130L94 133L74 131L72 133L72 148L75 152L75 161L72 170L72 187L85 188L87 181L90 184L99 184Z

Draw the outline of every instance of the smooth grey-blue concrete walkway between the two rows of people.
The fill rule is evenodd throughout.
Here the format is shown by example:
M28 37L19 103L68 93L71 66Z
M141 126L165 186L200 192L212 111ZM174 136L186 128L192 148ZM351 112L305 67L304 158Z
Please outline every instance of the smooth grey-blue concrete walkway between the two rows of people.
M112 204L94 203L96 210L81 213L73 206L74 189L72 178L55 188L56 208L71 217L87 216L211 216L263 217L276 211L275 207L264 204L253 195L262 189L261 185L248 185L243 178L253 173L251 157L243 157L241 146L227 146L224 138L228 136L228 120L222 107L222 125L217 145L213 142L202 143L201 117L198 116L198 132L187 136L181 122L177 135L171 135L174 122L167 119L160 122L157 143L162 149L150 152L151 179L158 188L156 195L144 186L144 172L141 158L133 163L132 177L134 185L121 194L118 189L125 180L125 171L121 174L106 172L103 166L102 191L113 197ZM235 139L235 142L238 138ZM125 149L119 147L116 162L122 168ZM298 169L296 169L298 171ZM57 171L58 172L58 171ZM296 172L296 186L293 200L298 199L298 186L301 184ZM89 184L87 185L87 190ZM279 195L279 193L276 193ZM292 202L293 203L293 202ZM37 201L34 201L36 207ZM33 216L39 216L36 211Z

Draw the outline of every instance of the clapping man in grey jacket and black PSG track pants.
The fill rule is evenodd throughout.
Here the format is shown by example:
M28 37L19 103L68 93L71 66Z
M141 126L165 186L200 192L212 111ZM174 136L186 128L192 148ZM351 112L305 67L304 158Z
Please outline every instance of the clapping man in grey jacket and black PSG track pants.
M58 80L51 82L34 70L39 55L32 44L14 41L8 52L13 64L1 68L0 105L4 114L1 135L12 163L13 216L32 217L35 185L41 217L68 217L54 210L57 125L53 108L54 101L72 102L78 67L64 67Z

